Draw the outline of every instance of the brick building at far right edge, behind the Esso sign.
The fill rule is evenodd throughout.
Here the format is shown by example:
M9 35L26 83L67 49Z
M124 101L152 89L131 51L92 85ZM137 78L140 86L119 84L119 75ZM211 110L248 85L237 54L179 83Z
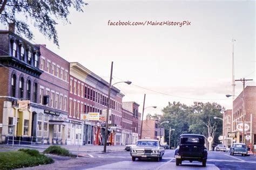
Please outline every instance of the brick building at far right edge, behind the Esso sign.
M243 121L243 91L233 101L234 132L237 132L237 142L242 142L242 132L239 132L237 125ZM256 145L256 86L247 86L244 90L245 123L248 130L245 131L246 145ZM246 126L245 126L246 127Z

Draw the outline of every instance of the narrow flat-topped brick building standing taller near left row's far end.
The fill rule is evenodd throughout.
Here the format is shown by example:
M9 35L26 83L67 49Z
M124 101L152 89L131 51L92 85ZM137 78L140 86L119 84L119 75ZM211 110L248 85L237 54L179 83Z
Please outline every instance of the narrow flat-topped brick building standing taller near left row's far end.
M132 143L137 143L137 140L139 139L138 134L138 123L140 121L139 117L139 104L136 102L123 102L123 109L132 112Z

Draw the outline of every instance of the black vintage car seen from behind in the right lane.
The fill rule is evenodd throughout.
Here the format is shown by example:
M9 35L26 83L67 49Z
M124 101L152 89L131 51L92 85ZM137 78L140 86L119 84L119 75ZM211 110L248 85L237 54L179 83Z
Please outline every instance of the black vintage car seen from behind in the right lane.
M184 160L199 161L206 166L207 149L205 147L205 136L201 134L181 134L180 144L175 150L176 166Z

